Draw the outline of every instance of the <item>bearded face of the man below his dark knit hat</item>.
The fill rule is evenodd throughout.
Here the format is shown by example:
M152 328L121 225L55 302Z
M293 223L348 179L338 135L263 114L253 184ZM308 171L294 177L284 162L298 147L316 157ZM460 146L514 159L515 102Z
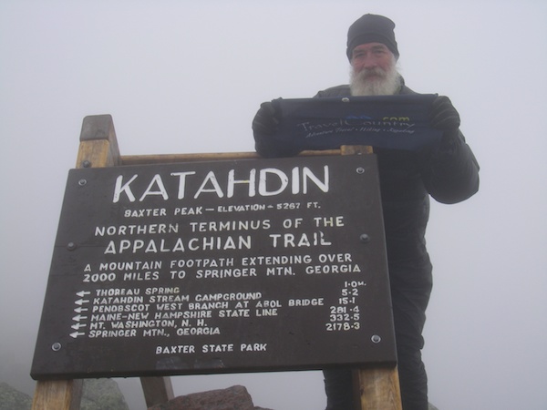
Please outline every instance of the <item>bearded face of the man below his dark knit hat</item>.
M384 96L397 93L400 78L395 56L381 43L356 46L351 58L350 87L354 96Z

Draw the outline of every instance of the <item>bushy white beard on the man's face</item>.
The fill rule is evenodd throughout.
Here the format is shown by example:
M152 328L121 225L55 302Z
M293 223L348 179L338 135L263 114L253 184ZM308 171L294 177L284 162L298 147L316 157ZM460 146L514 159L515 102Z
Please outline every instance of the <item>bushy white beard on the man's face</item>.
M368 78L371 74L380 77ZM380 67L364 68L356 73L351 67L349 88L352 96L392 96L401 87L401 77L397 72L395 59L387 71Z

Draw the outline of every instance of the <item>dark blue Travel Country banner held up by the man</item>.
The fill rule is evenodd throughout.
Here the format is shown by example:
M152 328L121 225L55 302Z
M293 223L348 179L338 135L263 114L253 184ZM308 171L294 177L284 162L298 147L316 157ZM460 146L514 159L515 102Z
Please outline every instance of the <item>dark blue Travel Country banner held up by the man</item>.
M435 145L442 135L431 128L429 115L435 94L377 97L279 98L280 114L274 138L298 149L338 149L370 145L419 150Z

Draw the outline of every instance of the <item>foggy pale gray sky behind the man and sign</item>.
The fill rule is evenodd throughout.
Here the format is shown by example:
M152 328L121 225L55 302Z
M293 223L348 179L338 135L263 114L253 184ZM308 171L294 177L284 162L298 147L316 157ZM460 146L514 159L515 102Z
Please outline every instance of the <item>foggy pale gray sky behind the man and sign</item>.
M274 97L346 83L346 30L396 24L409 87L448 95L479 159L470 200L434 204L424 360L442 410L547 407L547 3L0 1L0 381L28 375L82 119L111 114L123 155L252 151ZM244 384L316 410L318 372L173 377L176 395ZM139 380L120 379L131 408Z

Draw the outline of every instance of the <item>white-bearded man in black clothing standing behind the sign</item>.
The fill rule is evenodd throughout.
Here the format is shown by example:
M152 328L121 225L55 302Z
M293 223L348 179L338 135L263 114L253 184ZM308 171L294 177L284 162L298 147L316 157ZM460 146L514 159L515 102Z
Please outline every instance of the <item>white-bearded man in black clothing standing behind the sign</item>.
M346 54L350 84L315 97L416 94L397 73L395 24L363 15L349 27ZM422 330L432 287L426 250L429 195L442 203L467 200L479 189L479 165L459 131L459 114L448 97L432 103L430 125L442 131L436 147L410 151L375 148L387 241L389 280L404 410L427 410L427 375L421 360ZM295 155L299 149L272 137L279 119L272 103L253 119L256 150L264 157ZM327 410L353 409L351 371L325 369Z

